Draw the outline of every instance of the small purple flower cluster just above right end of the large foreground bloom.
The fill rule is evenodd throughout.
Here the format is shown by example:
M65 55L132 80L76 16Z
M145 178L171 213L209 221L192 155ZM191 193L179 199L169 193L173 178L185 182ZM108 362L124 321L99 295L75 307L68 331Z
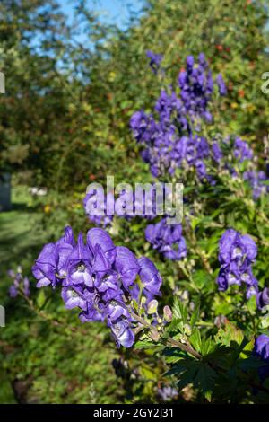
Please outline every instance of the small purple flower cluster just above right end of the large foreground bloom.
M183 259L187 256L187 245L182 235L181 224L167 224L166 218L145 229L145 238L167 259Z

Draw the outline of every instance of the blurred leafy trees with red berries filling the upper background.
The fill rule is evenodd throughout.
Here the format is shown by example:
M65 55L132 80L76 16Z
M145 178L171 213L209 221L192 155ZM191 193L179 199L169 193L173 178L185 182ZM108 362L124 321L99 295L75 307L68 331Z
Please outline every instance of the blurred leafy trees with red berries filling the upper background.
M261 143L268 127L260 91L269 66L267 1L150 0L121 29L100 22L84 0L73 4L74 25L52 0L1 2L1 168L60 190L84 189L108 169L121 178L123 157L125 175L143 171L130 116L150 107L187 55L201 51L229 81L225 118L217 117L225 133ZM148 49L163 55L166 81L148 68Z

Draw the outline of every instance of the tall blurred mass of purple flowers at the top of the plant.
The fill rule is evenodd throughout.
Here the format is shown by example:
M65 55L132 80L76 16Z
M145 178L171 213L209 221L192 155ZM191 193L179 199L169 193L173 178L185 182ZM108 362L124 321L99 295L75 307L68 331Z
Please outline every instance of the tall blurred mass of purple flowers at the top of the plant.
M150 164L154 177L192 167L199 179L209 180L204 159L210 154L210 145L204 136L194 133L194 129L200 131L201 119L212 121L208 107L213 95L213 77L204 54L200 54L197 65L194 57L187 57L186 70L178 75L178 84L179 97L171 88L169 92L161 91L155 105L157 119L143 110L136 111L130 127L135 140L143 145L143 160ZM220 75L217 84L224 93Z

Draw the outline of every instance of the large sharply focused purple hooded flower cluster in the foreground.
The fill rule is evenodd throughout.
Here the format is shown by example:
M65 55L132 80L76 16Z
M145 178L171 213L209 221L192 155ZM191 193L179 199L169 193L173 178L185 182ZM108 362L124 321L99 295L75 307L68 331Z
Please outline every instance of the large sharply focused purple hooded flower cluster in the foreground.
M75 242L66 227L62 238L44 246L32 272L38 287L60 285L65 307L80 308L82 322L106 320L118 347L134 343L132 299L160 295L161 276L152 261L115 246L100 228L89 230L86 242L80 233Z

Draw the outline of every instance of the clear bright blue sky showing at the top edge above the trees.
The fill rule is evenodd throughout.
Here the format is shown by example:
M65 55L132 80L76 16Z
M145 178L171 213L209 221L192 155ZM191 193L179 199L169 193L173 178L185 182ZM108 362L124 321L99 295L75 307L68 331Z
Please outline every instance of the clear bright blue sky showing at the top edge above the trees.
M74 14L73 0L57 0L63 12L72 19ZM89 9L100 13L102 22L116 23L118 27L125 28L130 8L134 13L139 13L143 0L88 0Z

